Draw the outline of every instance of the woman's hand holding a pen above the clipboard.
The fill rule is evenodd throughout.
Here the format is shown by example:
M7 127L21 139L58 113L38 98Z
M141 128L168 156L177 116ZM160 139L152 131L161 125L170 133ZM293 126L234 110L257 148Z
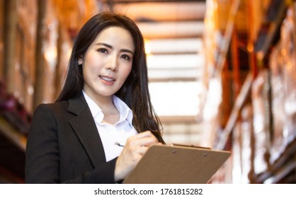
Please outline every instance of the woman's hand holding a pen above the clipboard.
M135 168L149 146L161 144L152 132L142 132L127 139L115 165L115 182L124 180Z

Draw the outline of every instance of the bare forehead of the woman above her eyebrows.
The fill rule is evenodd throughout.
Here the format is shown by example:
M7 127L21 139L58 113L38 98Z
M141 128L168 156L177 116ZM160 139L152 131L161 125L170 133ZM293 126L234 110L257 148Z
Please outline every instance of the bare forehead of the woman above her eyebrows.
M98 42L103 42L113 47L125 47L129 50L135 50L135 44L132 39L132 35L128 30L121 27L108 27L98 33L93 44L96 45Z

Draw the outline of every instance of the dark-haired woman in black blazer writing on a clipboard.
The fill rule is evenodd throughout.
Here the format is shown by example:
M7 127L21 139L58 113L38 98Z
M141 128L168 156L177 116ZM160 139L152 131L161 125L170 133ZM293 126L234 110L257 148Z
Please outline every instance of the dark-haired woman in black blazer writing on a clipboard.
M76 37L56 102L34 112L25 182L121 182L149 146L164 144L160 127L140 30L127 16L99 13Z

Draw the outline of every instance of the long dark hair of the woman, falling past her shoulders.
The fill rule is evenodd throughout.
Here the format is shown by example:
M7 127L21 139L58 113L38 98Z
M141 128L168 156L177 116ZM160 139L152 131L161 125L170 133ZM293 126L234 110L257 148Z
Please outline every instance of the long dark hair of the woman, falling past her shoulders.
M81 94L84 78L78 59L84 57L89 46L102 30L114 26L128 30L135 44L132 71L115 95L132 110L132 124L137 132L149 130L160 142L164 143L161 137L161 122L154 112L149 95L144 39L135 22L125 15L110 12L98 13L84 24L74 42L64 86L56 102L69 100Z

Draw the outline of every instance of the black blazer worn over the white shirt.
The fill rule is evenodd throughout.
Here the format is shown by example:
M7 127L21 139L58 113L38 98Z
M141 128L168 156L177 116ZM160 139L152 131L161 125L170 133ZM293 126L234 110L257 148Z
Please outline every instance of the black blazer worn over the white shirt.
M115 161L106 163L82 93L36 108L26 148L26 183L114 183Z

